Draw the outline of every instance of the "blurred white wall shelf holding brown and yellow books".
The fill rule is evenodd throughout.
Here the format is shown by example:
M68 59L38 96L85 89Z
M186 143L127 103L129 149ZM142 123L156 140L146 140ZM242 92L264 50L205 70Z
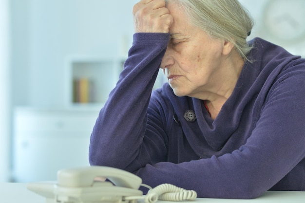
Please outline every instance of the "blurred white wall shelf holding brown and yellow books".
M96 105L107 101L125 59L70 57L67 60L67 103Z

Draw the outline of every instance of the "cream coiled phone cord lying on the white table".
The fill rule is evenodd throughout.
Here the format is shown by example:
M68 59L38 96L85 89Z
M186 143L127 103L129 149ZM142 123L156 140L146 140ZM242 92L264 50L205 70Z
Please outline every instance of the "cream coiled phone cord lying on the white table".
M147 185L142 185L146 186ZM184 201L195 200L197 193L194 190L186 190L171 184L162 184L150 189L143 197L125 197L125 200L145 199L145 203L155 203L158 200L164 201Z

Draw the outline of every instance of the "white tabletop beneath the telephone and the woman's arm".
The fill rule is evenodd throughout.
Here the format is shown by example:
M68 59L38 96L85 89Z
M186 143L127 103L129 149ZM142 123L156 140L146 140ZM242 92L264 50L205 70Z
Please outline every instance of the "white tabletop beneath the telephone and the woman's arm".
M26 184L0 183L0 203L45 203L45 198L29 191ZM305 203L305 192L267 191L253 200L197 198L196 201L184 203Z

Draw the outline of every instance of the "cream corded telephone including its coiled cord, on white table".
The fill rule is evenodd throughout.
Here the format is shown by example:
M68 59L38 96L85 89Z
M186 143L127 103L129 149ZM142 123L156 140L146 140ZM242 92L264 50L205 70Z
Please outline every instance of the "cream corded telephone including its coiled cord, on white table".
M109 181L105 181L108 179ZM140 186L148 187L143 195ZM107 166L62 169L56 182L29 183L27 188L46 198L46 203L155 203L158 200L194 200L197 193L170 184L155 188L142 184L130 172Z

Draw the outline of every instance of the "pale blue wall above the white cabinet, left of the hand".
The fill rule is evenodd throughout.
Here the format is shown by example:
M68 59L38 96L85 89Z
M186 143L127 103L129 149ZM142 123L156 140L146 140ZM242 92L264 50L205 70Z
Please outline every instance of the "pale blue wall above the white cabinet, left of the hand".
M14 84L16 105L62 106L66 57L114 57L123 37L131 43L135 0L25 0L23 8L20 1L13 2L13 9L19 11L14 13L15 22L23 19L23 24L16 25L23 32L14 35L20 42L23 39L14 44L22 64L13 65L25 75L15 76L15 81L20 81ZM22 58L19 50L24 50L27 58ZM19 88L27 92L22 98L17 95Z

